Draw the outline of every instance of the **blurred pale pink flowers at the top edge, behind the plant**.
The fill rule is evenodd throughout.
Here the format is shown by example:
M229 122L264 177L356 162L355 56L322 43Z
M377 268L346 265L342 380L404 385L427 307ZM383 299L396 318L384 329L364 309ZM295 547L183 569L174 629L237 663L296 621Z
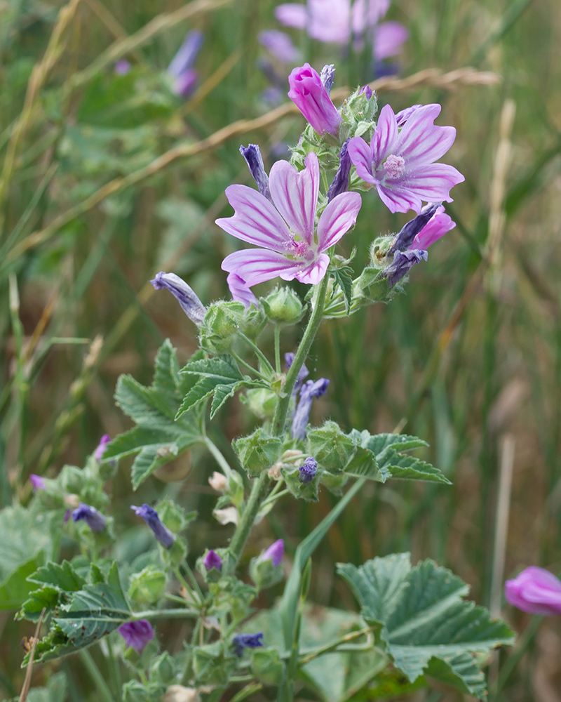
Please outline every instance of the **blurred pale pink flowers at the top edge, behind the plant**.
M401 51L409 32L399 22L382 22L390 0L308 0L306 5L287 3L275 10L285 27L306 29L313 39L332 44L349 44L351 37L360 48L365 34L372 36L372 55L376 60Z

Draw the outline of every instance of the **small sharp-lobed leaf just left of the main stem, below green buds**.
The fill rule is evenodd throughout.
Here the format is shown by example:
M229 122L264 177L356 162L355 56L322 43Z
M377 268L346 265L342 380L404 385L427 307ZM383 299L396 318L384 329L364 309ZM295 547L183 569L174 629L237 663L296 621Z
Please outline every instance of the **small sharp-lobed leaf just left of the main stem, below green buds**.
M185 395L182 405L177 411L176 419L210 397L212 393L214 393L214 398L210 407L211 419L224 402L240 388L269 387L266 383L251 380L249 376L242 376L238 364L229 354L191 360L181 370L181 373L187 374L187 376L198 376L198 379Z

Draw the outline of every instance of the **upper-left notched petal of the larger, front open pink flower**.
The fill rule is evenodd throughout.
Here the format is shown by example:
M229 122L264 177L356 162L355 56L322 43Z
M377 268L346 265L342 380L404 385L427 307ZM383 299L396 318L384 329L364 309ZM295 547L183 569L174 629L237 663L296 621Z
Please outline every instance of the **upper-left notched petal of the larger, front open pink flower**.
M234 217L223 217L216 224L224 232L248 244L285 251L290 231L273 205L257 190L247 185L230 185L226 197L234 208Z

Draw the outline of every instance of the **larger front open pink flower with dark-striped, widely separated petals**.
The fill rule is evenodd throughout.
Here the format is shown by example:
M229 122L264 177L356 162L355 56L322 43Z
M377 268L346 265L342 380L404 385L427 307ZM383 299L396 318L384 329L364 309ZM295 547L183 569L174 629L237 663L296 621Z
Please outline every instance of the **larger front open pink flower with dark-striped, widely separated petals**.
M343 192L327 204L316 231L318 157L312 152L304 164L300 173L288 161L273 164L269 177L272 203L247 185L226 189L235 214L216 220L217 225L260 247L235 251L222 261L222 270L235 273L246 288L276 277L316 285L330 263L325 252L356 223L360 195Z

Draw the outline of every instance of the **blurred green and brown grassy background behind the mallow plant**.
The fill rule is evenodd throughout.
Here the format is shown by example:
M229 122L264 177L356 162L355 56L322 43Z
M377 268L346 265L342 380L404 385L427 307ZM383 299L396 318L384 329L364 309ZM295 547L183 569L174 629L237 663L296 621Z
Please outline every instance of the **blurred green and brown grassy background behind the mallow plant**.
M271 110L257 33L280 28L273 6L0 0L3 505L25 503L29 473L83 465L100 435L128 428L113 400L119 373L148 383L166 336L182 360L196 347L196 329L175 300L147 284L158 270L184 277L204 303L229 297L220 263L236 241L213 220L230 212L224 188L248 183L238 147L259 143L269 167L288 157L283 144L304 126L281 109L257 130L229 128ZM380 105L396 111L440 102L439 124L457 128L449 161L466 183L447 208L457 228L414 267L406 295L320 331L308 365L331 385L313 419L331 416L346 430L406 428L431 443L429 460L453 485L368 485L318 549L310 599L353 609L335 562L398 550L411 550L414 562L433 557L524 632L522 648L501 652L499 672L492 663L491 697L553 702L561 697L560 622L538 629L538 618L503 606L497 584L529 564L561 569L561 9L556 0L395 0L388 17L410 32L403 76L472 66L501 81L379 92ZM205 44L198 88L184 100L165 69L188 29L201 30ZM336 87L374 78L340 47L292 37L316 68L337 65ZM124 75L114 71L121 58L131 65ZM276 66L283 76L291 68ZM357 274L370 241L406 220L374 194L363 198L343 247L357 246ZM297 342L283 338L283 351ZM210 431L228 452L229 439L250 428L236 399ZM214 468L208 454L195 454L183 482L152 477L133 500L123 463L111 486L113 512L122 509L129 524L122 548L144 548L126 516L130 501L163 494L200 512L193 559L224 545L231 527L210 516ZM318 503L280 503L248 557L280 537L290 555L334 499L324 491ZM32 634L11 620L0 613L4 697L23 680L24 651L14 642ZM73 702L95 696L80 665L59 666ZM36 671L34 684L53 670ZM45 692L53 702L56 680L55 696ZM379 698L380 685L356 699ZM410 698L454 699L425 691Z

